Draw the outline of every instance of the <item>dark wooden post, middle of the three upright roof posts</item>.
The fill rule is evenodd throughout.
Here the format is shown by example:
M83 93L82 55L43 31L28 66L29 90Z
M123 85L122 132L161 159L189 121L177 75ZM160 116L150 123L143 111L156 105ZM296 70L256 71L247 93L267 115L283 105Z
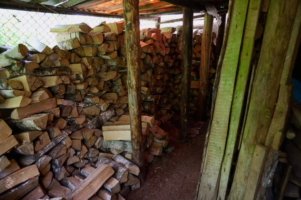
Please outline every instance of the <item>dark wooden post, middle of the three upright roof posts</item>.
M189 104L192 63L192 32L193 9L183 9L183 52L182 52L182 79L181 79L181 139L188 138L189 129Z

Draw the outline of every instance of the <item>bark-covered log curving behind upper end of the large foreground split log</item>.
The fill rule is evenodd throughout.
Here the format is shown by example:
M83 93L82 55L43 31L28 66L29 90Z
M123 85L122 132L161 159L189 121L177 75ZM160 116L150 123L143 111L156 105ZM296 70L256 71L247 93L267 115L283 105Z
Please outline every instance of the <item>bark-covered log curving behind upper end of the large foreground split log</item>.
M124 167L121 163L116 162L107 157L100 157L98 158L95 167L98 167L102 164L109 164L114 169L113 177L120 181L120 183L127 181L128 169Z

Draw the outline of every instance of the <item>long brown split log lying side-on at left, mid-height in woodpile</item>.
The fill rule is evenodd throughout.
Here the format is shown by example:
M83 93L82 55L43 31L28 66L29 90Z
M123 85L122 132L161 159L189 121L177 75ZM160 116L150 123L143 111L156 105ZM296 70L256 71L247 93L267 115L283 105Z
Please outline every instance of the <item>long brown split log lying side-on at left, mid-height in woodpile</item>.
M45 99L44 101L40 101L35 104L29 104L22 108L16 108L12 114L12 119L23 119L29 115L36 114L39 112L43 112L56 107L55 98Z

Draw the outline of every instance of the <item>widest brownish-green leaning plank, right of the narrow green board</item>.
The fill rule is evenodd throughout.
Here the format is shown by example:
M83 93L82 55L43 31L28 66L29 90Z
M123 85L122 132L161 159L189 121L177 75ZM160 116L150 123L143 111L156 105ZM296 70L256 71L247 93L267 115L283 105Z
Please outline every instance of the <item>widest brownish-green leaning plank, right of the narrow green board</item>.
M270 1L260 57L229 199L241 199L255 145L264 144L278 97L279 83L298 1Z

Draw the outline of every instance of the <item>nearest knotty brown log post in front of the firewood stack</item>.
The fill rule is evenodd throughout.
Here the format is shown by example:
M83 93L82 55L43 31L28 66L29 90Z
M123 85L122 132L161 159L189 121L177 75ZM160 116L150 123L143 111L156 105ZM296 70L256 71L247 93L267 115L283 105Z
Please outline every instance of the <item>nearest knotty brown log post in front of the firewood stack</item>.
M125 24L128 108L131 130L133 161L140 168L140 181L145 179L145 166L142 156L141 127L141 66L140 66L140 23L139 0L123 0Z

